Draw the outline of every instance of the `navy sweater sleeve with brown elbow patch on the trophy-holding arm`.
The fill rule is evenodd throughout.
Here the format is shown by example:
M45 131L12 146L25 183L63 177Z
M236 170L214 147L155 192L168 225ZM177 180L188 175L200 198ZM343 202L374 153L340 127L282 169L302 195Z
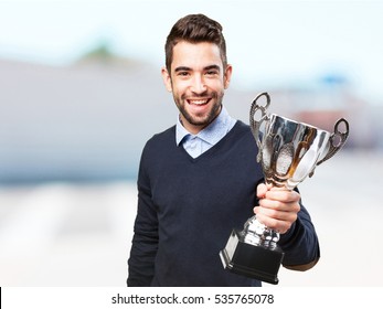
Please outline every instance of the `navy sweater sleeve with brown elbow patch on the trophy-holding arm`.
M285 252L283 265L294 270L307 270L320 257L319 241L310 215L301 204L297 221L280 236L279 243Z

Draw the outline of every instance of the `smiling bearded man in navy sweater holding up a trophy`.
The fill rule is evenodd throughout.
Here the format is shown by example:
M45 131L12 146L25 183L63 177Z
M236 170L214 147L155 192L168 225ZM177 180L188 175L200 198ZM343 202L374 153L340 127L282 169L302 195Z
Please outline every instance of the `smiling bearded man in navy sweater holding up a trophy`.
M219 255L254 213L280 232L286 267L312 267L318 238L299 193L263 183L249 127L222 104L232 66L221 24L203 14L180 19L162 77L180 115L142 151L128 286L260 286L225 270Z

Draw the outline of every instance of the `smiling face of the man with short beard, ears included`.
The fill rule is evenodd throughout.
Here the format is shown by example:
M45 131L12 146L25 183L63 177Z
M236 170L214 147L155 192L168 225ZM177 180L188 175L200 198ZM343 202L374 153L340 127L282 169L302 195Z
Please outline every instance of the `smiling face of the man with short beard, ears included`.
M231 74L215 44L181 41L173 47L171 72L162 68L162 77L187 130L198 134L220 114Z

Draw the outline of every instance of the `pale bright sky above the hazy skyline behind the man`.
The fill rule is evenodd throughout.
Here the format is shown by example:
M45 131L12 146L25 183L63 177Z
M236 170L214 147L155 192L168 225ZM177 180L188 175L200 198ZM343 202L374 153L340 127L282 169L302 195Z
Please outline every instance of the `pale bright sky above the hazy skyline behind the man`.
M233 83L309 84L332 74L383 102L383 1L0 0L0 58L66 65L106 41L160 68L170 28L189 13L223 25Z

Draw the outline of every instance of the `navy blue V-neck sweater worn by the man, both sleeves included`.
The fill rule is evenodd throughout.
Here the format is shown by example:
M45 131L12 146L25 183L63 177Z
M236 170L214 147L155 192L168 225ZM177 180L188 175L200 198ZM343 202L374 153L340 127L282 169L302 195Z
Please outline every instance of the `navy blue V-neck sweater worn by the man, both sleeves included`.
M175 126L147 142L138 175L128 286L260 286L225 270L219 255L232 230L243 230L254 215L256 185L263 181L256 154L251 129L242 121L195 159L175 145ZM278 244L286 265L319 257L304 206Z

